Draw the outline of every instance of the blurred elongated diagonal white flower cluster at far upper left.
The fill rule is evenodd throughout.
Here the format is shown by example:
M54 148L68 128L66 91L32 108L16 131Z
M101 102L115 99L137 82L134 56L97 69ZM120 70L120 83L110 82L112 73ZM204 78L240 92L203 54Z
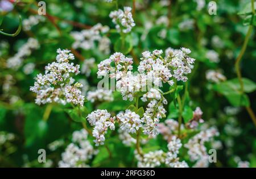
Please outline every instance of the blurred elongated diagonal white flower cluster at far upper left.
M20 66L22 66L24 58L31 55L32 50L38 49L39 47L40 45L38 43L38 40L34 38L29 38L27 43L19 48L18 53L16 53L10 59L7 59L7 67L17 70Z

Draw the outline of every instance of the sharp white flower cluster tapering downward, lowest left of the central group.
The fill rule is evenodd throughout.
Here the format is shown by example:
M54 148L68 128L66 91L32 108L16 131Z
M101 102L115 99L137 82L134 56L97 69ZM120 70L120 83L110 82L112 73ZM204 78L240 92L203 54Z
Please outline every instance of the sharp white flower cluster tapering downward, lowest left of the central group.
M105 141L105 134L110 130L115 130L115 117L112 118L110 113L107 110L96 110L90 113L87 117L88 122L91 126L95 126L93 128L93 136L96 138L94 142L96 146L104 144Z

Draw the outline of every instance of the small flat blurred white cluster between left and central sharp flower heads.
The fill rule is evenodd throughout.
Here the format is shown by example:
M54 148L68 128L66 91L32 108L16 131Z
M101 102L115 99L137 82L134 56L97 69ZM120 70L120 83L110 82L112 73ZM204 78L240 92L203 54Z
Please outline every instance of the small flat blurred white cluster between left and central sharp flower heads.
M96 91L88 91L87 99L91 102L95 101L113 101L114 97L112 91L105 91L103 89L97 89Z

